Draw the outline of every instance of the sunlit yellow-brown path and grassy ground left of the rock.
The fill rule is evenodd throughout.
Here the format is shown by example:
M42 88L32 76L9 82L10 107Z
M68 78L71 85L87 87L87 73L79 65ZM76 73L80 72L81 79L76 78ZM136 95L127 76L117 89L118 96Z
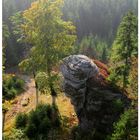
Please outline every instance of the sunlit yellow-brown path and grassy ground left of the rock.
M20 112L29 113L36 106L36 94L35 94L35 83L32 78L26 75L20 75L22 79L25 80L25 91L17 96L14 100L10 102L5 102L9 106L9 111L6 113L5 118L5 129L4 132L10 134L11 129L15 124L15 117ZM23 106L25 100L29 100L26 106ZM51 104L51 96L43 95L39 96L39 103ZM74 108L70 103L70 100L62 93L58 95L56 103L62 118L66 121L68 129L77 125L78 121L74 112Z

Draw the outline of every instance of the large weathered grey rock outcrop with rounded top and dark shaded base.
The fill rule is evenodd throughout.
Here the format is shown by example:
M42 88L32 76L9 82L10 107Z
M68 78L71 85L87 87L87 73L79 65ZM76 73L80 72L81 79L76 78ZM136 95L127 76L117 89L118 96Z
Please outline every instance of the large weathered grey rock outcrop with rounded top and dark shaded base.
M112 130L129 100L105 83L96 64L84 55L71 55L63 60L61 72L63 90L74 105L79 126L83 131L105 134ZM103 83L101 81L104 81Z

